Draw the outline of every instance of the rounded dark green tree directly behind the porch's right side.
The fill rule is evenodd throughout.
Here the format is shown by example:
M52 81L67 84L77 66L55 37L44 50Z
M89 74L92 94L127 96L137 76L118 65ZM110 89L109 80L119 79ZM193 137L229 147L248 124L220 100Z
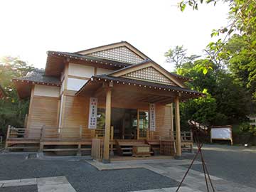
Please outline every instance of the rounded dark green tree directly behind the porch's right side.
M206 93L206 97L181 104L183 127L188 119L207 125L234 124L245 119L248 105L244 87L213 60L205 58L182 63L176 73L193 79L187 83L188 87Z

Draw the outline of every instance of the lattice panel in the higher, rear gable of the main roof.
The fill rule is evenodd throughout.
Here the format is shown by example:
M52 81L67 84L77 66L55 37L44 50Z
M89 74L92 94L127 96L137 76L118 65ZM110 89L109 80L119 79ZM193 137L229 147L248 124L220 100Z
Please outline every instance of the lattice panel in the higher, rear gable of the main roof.
M144 60L125 46L119 48L111 48L107 50L100 50L95 53L91 53L90 55L132 64L141 63Z

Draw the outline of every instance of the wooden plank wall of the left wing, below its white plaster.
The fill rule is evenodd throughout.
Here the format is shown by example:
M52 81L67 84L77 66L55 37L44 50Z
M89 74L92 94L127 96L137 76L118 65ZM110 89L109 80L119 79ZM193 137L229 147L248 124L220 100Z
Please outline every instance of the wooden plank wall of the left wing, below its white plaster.
M58 102L57 97L33 96L29 112L29 138L39 139L43 125L57 127Z

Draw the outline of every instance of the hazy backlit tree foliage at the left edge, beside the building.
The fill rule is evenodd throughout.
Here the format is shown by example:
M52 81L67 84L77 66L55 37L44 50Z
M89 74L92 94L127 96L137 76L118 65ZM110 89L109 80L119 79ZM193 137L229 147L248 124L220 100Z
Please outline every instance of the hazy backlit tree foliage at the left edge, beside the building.
M18 99L16 88L11 80L23 77L31 70L33 67L19 58L7 56L0 58L0 84L6 92L6 98L0 100L0 134L6 133L6 127L9 124L23 127L29 101Z

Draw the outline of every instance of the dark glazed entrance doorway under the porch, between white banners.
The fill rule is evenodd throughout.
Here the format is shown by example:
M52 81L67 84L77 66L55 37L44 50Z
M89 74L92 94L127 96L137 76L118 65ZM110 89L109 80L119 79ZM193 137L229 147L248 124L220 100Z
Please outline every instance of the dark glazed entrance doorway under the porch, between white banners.
M114 139L146 139L149 112L112 108L111 125L114 127ZM105 109L102 108L97 110L97 129L105 129Z

